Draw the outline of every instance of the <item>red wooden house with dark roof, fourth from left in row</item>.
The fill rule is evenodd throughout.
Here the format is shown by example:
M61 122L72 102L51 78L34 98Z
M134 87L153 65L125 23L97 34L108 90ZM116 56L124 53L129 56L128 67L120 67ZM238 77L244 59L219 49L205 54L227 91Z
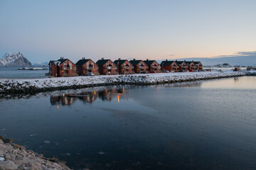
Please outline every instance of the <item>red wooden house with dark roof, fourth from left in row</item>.
M134 74L134 66L128 60L115 60L114 64L117 65L117 71L119 74Z

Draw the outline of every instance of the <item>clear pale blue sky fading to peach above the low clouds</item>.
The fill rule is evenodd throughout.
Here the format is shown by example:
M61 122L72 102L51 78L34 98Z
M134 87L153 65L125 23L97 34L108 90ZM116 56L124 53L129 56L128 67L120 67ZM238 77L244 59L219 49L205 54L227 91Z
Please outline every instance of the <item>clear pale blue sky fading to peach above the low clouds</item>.
M255 0L0 0L0 57L77 62L255 52L255 9Z

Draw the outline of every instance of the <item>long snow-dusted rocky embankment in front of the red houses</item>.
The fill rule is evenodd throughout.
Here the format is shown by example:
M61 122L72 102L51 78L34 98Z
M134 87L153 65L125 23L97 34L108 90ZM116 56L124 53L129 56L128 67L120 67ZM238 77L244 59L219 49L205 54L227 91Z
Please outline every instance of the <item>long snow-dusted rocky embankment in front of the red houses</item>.
M201 79L247 75L248 72L176 72L159 74L101 75L95 77L58 77L46 79L0 79L2 93L30 93L61 89L79 89L114 84L166 84Z

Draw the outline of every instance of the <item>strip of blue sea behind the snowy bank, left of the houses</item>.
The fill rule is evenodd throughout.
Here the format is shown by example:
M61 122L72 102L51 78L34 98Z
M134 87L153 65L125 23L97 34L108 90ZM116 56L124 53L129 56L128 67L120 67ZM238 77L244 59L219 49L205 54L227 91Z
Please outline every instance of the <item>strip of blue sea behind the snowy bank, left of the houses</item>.
M42 79L49 72L48 67L41 67L45 70L18 70L19 68L21 67L0 67L0 79Z

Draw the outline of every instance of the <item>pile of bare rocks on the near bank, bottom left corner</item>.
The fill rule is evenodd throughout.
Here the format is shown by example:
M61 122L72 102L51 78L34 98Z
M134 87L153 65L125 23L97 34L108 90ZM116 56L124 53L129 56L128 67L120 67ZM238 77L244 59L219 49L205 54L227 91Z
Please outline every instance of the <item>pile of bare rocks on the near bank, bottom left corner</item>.
M46 158L21 145L14 140L0 136L0 169L69 169L64 162L56 158Z

